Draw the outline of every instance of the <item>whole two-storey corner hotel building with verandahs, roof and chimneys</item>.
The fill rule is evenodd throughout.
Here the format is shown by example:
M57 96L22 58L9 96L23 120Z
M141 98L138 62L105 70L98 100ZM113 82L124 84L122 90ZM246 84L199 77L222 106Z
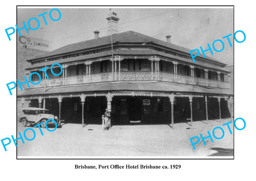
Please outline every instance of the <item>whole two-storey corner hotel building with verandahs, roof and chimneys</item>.
M18 116L22 107L43 107L66 122L101 124L107 108L111 125L138 122L172 127L185 120L192 125L196 120L233 117L225 63L201 55L193 62L190 50L172 44L171 36L164 42L135 31L118 32L117 14L110 12L106 18L108 36L100 37L95 30L93 39L27 60L27 76L37 72L42 82L30 88L22 85ZM47 69L47 79L39 70L54 63L63 72L54 76ZM38 76L31 80L38 81Z

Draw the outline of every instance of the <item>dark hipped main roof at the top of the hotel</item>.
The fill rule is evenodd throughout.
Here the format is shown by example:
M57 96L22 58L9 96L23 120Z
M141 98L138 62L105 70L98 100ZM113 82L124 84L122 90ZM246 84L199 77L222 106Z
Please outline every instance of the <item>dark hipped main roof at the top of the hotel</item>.
M113 35L113 45L119 44L139 44L139 45L144 45L144 46L155 46L155 47L160 47L163 48L163 50L166 51L174 51L177 53L181 53L181 54L185 54L189 57L190 60L190 54L189 54L189 49L185 48L185 47L181 47L178 45L174 45L172 43L167 43L164 42L162 40L147 36L147 35L143 35L140 34L138 32L135 31L125 31L125 32L121 32L118 34L114 34ZM37 62L37 61L44 61L45 59L50 59L51 57L54 56L60 56L60 55L65 55L65 54L70 54L70 53L76 53L76 52L81 52L81 51L86 51L86 50L92 50L93 48L102 48L102 47L106 47L111 45L111 38L110 36L105 36L105 37L101 37L101 38L97 38L97 39L91 39L91 40L86 40L83 42L79 42L79 43L74 43L74 44L70 44L70 45L66 45L63 46L61 48L58 48L57 50L54 50L52 52L47 52L41 56L37 56L34 59L30 59L27 60L28 62ZM161 49L155 48L156 51L160 51ZM161 52L163 53L163 52ZM96 55L97 56L97 55ZM204 56L201 54L199 56L197 56L196 60L200 60L205 61L207 63L214 63L217 64L218 67L225 67L225 63L218 61L218 60L214 60L211 57L207 57L204 58ZM191 63L194 63L193 60L191 59Z

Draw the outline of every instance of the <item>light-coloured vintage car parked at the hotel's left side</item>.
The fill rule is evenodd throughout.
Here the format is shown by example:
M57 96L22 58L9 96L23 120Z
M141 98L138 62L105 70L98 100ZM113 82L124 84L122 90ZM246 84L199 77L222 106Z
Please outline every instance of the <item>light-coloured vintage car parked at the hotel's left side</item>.
M49 110L42 108L23 108L21 111L21 118L19 119L19 121L21 122L22 126L27 126L27 124L37 125L43 122L41 127L45 128L45 122L48 119L54 119L57 122L58 127L60 127L61 120L59 120L57 116L50 114ZM54 124L53 121L47 122L47 125L52 124Z

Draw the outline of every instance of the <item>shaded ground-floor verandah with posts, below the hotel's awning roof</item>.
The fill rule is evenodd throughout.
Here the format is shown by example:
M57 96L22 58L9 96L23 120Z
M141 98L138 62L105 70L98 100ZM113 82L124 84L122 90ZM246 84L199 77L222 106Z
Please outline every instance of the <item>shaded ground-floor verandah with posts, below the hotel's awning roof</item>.
M63 122L102 124L111 111L111 125L173 124L233 117L233 97L202 94L108 92L18 97L22 107L49 109Z

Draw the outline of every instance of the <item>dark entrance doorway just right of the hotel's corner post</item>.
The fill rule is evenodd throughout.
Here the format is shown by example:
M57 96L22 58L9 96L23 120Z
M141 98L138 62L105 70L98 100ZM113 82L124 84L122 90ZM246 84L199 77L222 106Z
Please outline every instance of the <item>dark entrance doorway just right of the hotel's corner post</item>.
M141 99L131 98L129 100L129 120L141 121Z

